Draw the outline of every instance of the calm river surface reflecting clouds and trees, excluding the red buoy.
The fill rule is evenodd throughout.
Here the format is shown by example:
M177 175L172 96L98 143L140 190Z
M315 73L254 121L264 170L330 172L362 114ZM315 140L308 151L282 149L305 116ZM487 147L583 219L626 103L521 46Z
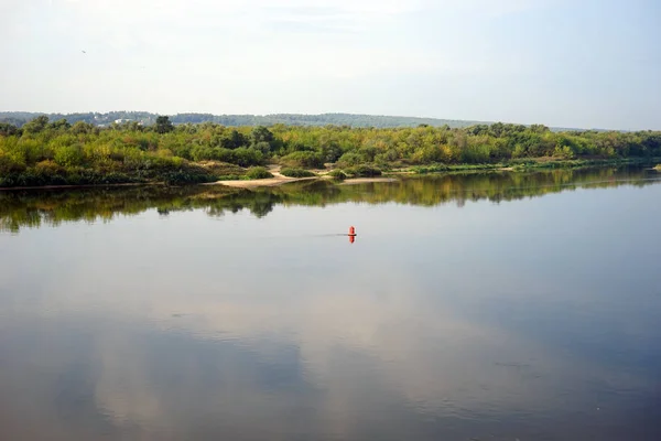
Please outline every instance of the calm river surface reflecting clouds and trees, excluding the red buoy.
M0 439L660 440L659 179L0 193Z

